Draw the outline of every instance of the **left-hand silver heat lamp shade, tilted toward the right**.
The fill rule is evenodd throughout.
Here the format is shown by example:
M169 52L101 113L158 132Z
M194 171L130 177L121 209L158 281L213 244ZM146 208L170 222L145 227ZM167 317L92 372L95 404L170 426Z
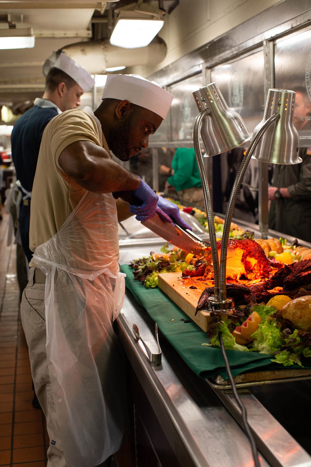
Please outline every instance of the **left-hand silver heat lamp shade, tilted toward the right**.
M203 118L200 131L207 157L229 151L250 139L251 135L242 117L227 106L216 83L206 85L192 94L199 112L206 109L210 111Z

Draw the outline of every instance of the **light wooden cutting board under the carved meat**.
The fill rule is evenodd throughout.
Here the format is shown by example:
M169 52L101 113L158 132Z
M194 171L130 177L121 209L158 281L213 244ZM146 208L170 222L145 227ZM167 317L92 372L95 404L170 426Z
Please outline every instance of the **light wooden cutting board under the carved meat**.
M204 332L207 332L207 325L210 319L209 311L198 311L194 316L201 293L206 288L206 284L198 283L193 279L182 279L181 272L166 272L158 275L158 285L163 292L170 297L182 311L191 318ZM197 289L190 289L194 285Z

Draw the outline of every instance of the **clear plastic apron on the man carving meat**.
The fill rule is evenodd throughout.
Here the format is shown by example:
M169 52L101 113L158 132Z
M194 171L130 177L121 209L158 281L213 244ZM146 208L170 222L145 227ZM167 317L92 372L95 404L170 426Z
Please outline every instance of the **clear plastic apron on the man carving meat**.
M112 321L122 308L117 209L86 191L56 235L35 249L46 274L46 351L68 467L94 467L124 432L124 362Z

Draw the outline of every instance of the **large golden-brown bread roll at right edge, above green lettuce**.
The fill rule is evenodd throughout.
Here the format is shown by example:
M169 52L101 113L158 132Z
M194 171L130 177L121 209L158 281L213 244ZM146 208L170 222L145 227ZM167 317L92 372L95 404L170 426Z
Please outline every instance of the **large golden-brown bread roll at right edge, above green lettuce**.
M311 331L311 295L291 300L276 316L288 319L295 329Z

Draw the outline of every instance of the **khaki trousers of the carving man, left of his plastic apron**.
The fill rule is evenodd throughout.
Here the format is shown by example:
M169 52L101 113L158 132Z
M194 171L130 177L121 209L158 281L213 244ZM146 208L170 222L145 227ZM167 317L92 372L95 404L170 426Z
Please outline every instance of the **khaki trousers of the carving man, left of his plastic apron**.
M30 268L29 282L21 298L21 322L29 349L35 393L47 420L48 467L66 467L48 375L44 292L45 275L38 268Z

